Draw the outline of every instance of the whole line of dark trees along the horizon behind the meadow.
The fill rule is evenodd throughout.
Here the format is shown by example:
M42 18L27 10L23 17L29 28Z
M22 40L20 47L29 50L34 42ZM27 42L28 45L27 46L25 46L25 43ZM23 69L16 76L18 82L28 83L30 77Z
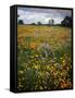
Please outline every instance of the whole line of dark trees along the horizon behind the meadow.
M20 15L17 15L18 17ZM23 25L24 21L23 20L18 20L17 22L18 25ZM29 25L48 25L48 26L65 26L65 27L72 27L73 26L73 19L71 16L65 16L63 19L63 21L61 22L61 24L54 24L54 20L49 20L47 24L42 24L40 21L36 23L30 23Z

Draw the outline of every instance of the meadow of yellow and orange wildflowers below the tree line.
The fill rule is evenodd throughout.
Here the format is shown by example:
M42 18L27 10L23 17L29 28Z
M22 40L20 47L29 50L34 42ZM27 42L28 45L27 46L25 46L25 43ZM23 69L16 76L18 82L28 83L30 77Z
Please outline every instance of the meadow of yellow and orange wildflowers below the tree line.
M73 87L72 29L17 25L17 89L57 90Z

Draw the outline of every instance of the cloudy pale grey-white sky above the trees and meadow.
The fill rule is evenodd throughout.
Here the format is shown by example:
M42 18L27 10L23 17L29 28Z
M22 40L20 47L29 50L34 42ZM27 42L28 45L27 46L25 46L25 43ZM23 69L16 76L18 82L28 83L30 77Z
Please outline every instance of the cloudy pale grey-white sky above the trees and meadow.
M32 24L41 22L47 24L49 20L54 20L54 24L61 24L61 21L65 16L72 16L71 10L60 10L60 9L40 9L40 8L17 8L17 17L23 20L24 24Z

